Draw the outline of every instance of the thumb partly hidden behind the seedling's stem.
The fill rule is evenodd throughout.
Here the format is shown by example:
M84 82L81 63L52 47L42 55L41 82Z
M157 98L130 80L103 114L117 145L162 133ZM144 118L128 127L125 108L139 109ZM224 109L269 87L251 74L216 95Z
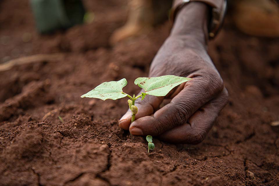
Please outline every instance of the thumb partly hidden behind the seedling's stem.
M142 90L140 94L144 92ZM138 108L138 112L136 114L135 119L144 117L144 116L149 116L153 114L154 110L157 109L160 105L160 103L163 101L164 97L156 97L156 96L146 96L144 100L137 99L135 101L135 105ZM129 109L124 116L121 117L119 120L119 127L128 130L130 123L131 123L131 118L132 118L132 112Z

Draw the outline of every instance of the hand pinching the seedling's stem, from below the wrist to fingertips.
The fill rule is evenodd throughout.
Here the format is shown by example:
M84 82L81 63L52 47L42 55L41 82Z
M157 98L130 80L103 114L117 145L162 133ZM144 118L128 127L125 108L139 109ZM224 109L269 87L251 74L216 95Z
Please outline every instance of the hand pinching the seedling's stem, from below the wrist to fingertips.
M119 126L129 129L132 135L152 135L172 143L198 144L228 102L228 92L206 52L205 40L197 35L174 33L155 56L149 76L176 75L192 80L179 85L165 97L147 95L144 100L137 100L136 120L130 124L131 112L127 111ZM156 111L164 98L172 100Z

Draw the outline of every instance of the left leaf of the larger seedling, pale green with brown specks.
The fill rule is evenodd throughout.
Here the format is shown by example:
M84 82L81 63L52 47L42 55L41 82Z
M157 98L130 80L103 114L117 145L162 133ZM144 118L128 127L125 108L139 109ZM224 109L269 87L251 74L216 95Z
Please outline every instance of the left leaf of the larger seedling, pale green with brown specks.
M104 82L101 85L98 85L96 88L83 94L81 97L88 97L88 98L98 98L101 100L106 99L120 99L127 96L127 94L122 94L122 88L127 85L127 80L125 78L119 81L109 81Z

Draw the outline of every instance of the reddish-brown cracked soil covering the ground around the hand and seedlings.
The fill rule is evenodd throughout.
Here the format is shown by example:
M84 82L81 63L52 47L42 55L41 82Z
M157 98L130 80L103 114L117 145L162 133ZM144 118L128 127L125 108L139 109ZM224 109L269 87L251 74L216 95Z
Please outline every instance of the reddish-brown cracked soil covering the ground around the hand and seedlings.
M104 81L135 78L167 37L164 24L109 47L126 2L86 0L90 24L40 36L28 0L0 3L0 59L65 53L0 72L0 185L279 185L279 41L239 33L229 17L209 53L230 102L199 145L154 140L118 127L126 99L79 96ZM28 39L29 36L32 36ZM62 117L64 123L58 119Z

